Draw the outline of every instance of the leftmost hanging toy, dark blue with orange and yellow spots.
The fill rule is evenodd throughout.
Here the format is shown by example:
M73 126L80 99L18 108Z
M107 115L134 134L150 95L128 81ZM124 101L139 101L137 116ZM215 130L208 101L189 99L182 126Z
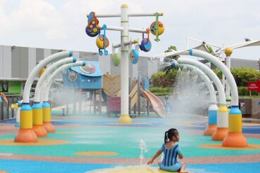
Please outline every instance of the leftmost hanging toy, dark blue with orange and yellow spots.
M89 13L88 25L86 25L86 34L88 36L94 37L97 36L100 32L100 26L98 25L99 21L96 18L94 12Z

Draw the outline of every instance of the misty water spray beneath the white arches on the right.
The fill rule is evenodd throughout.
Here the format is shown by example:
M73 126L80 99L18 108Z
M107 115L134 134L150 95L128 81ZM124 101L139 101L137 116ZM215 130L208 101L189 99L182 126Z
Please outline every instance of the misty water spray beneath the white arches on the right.
M209 91L197 74L185 67L178 69L174 94L170 99L172 113L205 115L209 107Z

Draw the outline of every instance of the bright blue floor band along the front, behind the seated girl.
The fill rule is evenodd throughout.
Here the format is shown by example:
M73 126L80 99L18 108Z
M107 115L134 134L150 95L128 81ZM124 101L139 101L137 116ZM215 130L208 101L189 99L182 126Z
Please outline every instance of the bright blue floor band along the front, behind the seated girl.
M129 165L110 165L110 164L84 164L66 162L45 162L45 161L25 161L25 160L1 160L0 170L11 173L23 172L90 172L94 169L112 168ZM193 173L240 173L257 172L260 162L250 163L223 163L223 164L203 164L187 165L187 170Z

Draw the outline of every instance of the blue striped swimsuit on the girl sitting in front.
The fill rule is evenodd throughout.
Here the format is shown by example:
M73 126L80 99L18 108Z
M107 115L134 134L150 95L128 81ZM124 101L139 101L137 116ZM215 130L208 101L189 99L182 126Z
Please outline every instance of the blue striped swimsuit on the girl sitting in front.
M171 148L166 148L165 144L162 144L160 150L164 152L164 159L160 163L160 168L165 171L178 171L181 168L181 162L177 161L178 154L181 154L180 146L175 143Z

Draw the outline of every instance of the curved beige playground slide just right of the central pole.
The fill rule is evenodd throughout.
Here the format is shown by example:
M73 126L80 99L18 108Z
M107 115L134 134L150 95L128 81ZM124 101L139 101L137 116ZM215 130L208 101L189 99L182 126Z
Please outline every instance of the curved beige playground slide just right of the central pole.
M149 90L141 89L141 94L152 104L152 108L155 110L157 115L165 118L164 104L162 104L162 101Z

